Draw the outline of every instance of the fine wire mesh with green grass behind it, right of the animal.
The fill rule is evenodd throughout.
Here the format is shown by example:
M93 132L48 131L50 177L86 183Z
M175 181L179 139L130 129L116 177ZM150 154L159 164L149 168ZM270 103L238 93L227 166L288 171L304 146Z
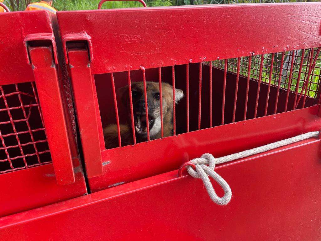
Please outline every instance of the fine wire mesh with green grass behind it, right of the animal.
M228 59L227 62L227 71L236 74L238 58ZM217 60L213 62L213 66L224 69L224 63L225 60ZM248 63L249 57L240 58L240 76L248 76ZM309 96L317 99L320 92L318 89L320 69L320 48L298 49L252 56L249 76L256 81L280 86L281 89L285 90L289 89L292 93L302 93L305 98ZM303 86L305 88L302 88ZM294 106L292 109L296 109L296 107Z

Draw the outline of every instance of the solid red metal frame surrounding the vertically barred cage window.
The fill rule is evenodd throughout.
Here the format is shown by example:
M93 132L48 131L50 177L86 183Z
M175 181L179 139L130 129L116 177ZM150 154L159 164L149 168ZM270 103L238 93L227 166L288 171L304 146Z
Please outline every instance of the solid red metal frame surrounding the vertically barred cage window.
M314 22L318 21L317 17L315 17L314 22L301 22L297 17L302 14L307 14L312 8L320 9L321 11L320 4L309 3L210 5L151 8L144 10L137 8L122 10L122 14L119 14L118 10L57 13L63 46L66 48L65 58L67 58L67 61L70 63L69 66L71 67L70 71L75 94L75 105L78 113L86 171L89 177L91 191L99 191L113 186L115 183L127 183L178 168L183 156L185 156L183 158L184 161L187 161L191 157L203 154L201 153L202 151L205 151L211 144L213 145L211 142L211 140L213 140L213 133L219 130L218 127L216 127L213 130L207 129L191 133L190 135L182 134L178 135L178 137L174 136L162 140L153 140L148 143L140 143L134 147L128 146L105 150L98 105L99 101L96 96L96 90L92 87L96 85L95 82L97 79L109 78L108 73L111 73L110 75L114 77L113 83L115 83L115 86L120 86L122 80L116 78L116 72L126 71L126 74L128 74L129 70L141 69L143 81L145 81L147 78L147 75L145 76L145 69L147 71L150 68L158 68L160 72L160 67L171 66L172 72L174 73L174 66L182 64L187 64L186 72L188 75L191 75L188 63L199 63L199 75L197 76L199 79L198 129L203 129L203 121L210 121L210 119L207 120L204 118L201 112L204 103L204 101L202 101L204 87L201 86L201 83L204 85L205 81L207 86L209 78L209 68L202 67L202 62L205 60L216 60L218 58L239 58L248 55L251 59L254 53L281 52L284 51L285 48L291 50L318 47L321 37L318 35L318 28L316 28L314 24ZM225 29L224 32L221 31L221 24L207 24L209 21L216 22L217 16L221 18L220 21ZM248 18L248 16L255 17ZM94 24L97 19L101 20L100 24ZM159 19L162 19L162 27L159 31L155 31L155 26L159 26L160 24ZM257 24L257 19L265 22L266 26L282 25L283 28L273 27L262 31L262 26ZM101 29L101 25L106 27ZM250 29L242 27L245 25L252 27ZM184 27L182 28L181 26ZM234 31L235 29L238 29L238 31ZM283 31L283 29L287 29L287 31ZM198 34L195 35L195 31L193 30L197 31ZM220 32L219 35L217 34L218 32ZM311 36L315 37L312 38ZM68 47L68 44L73 44L74 42L82 42L86 48L78 50ZM141 47L142 42L144 43L143 48ZM264 48L262 46L264 46ZM190 49L193 49L193 51L190 51ZM80 51L82 51L81 54ZM81 66L79 63L82 63ZM225 93L225 86L229 83L226 71L227 64L226 61L223 76L224 82L222 85L223 94ZM88 72L88 74L81 74L84 71ZM178 78L180 78L178 71L177 67L175 67L175 75L172 73L173 79L170 83L175 81L175 85L178 85ZM105 75L97 76L102 73L105 73ZM214 81L217 82L216 76L219 75L219 73L213 71L212 74ZM78 77L75 77L75 75L78 75ZM159 73L157 78L165 81L160 75ZM193 83L191 83L189 80L191 76L188 75L186 82L188 83L189 81L188 85L194 85L194 79ZM194 73L192 73L192 75L194 76ZM204 78L204 75L207 75L207 77ZM133 76L131 76L131 81L133 81ZM124 79L124 83L127 84L127 82L128 79ZM186 86L187 89L188 85ZM252 106L252 103L249 103L249 101L252 100L252 98L249 98L249 94L252 93L251 86L250 74L248 74L247 98L244 102L244 120L252 118L251 116L253 115L262 116L261 112L259 113L257 111L256 105L259 103L259 96L262 96L262 94L260 94L262 90L258 86L256 87L256 97L254 101L254 103L256 103L256 113L247 112L247 109ZM99 91L100 88L101 87L99 87ZM214 85L213 88L217 87ZM279 88L280 85L278 86L280 92ZM226 87L226 91L230 91L228 87ZM240 93L240 90L238 92ZM272 92L272 94L275 94L274 89ZM274 104L278 108L277 102L279 94L277 93L278 92L276 92L276 102ZM188 99L188 92L186 95ZM230 101L226 102L227 100L225 99L223 96L221 100L221 124L230 123L229 113L225 113L226 111L224 111L227 106L230 106ZM233 102L235 101L236 99ZM268 111L267 105L271 103L266 103L266 111ZM240 102L239 104L242 103ZM116 112L116 120L117 123L119 123L119 106L117 106L117 98L115 99L115 96L114 105L117 107L115 109L118 110ZM215 110L215 108L217 107L213 106L213 110ZM235 108L237 107L235 106ZM187 113L190 112L189 109L190 107L187 104ZM176 112L177 111L178 110L176 110ZM92 113L88 114L88 112ZM105 113L106 112L104 112L104 115ZM292 114L293 122L292 120L290 122L288 121L286 124L284 123L284 126L280 124L275 127L272 123L271 126L267 124L269 130L274 131L278 129L279 131L284 131L288 125L296 125L297 122L295 121L299 120L297 119L297 117L299 118L298 113L301 112L294 112ZM187 132L190 130L191 125L191 123L189 123L189 116L187 114ZM178 118L178 113L176 114L176 118ZM310 122L308 121L308 123ZM310 124L312 126L314 124L316 124L316 126L318 125L314 121ZM243 124L239 123L236 125L241 126ZM117 126L119 133L119 125ZM234 126L235 124L230 127L222 127L219 131L220 135L216 137L224 140L224 133L230 133L230 128ZM177 130L177 126L175 129ZM250 129L252 128L249 127L249 130ZM302 129L300 131L302 131ZM249 133L255 135L257 129L252 129ZM297 129L292 129L291 135L294 133L299 132L297 132ZM208 135L208 138L206 135ZM230 136L234 138L237 137L233 133ZM281 138L281 136L285 137L286 135L280 135L278 137ZM204 149L200 148L199 151L191 149L190 147L194 146L194 141L200 138L206 143L204 144ZM194 141L191 141L192 139ZM262 139L263 142L267 140L271 139ZM243 147L245 146L246 145ZM173 149L173 147L175 148ZM236 150L237 148L234 147L233 149ZM182 153L175 154L177 153L177 149L182 150ZM130 153L130 158L124 160L123 156L128 156L128 153ZM86 158L86 156L91 157ZM135 161L133 163L132 159L137 158L139 162ZM157 161L155 161L155 158Z

